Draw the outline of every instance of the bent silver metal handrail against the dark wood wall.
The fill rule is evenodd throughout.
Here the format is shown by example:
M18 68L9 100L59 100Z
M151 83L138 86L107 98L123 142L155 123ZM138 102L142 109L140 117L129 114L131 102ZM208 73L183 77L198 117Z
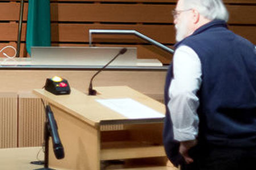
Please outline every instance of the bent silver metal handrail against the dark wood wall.
M159 46L160 48L166 50L169 53L174 53L174 50L171 48L168 48L167 46L150 39L149 37L143 35L142 33L139 33L135 30L119 30L119 29L89 29L89 46L92 46L92 33L102 33L102 34L134 34L148 42L150 42L153 45Z

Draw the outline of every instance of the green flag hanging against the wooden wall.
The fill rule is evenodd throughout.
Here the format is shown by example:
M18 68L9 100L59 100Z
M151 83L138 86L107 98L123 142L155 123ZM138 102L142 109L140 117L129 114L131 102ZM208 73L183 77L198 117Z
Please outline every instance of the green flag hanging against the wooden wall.
M49 0L28 0L26 48L51 46L51 11Z

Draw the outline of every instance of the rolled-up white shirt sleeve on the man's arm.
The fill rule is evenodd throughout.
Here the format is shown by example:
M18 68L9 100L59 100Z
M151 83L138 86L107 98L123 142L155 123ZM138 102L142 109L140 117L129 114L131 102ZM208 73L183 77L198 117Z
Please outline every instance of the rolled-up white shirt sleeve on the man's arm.
M177 141L194 140L198 134L199 117L196 96L201 86L201 61L196 52L182 45L175 50L173 58L174 77L169 88L168 109Z

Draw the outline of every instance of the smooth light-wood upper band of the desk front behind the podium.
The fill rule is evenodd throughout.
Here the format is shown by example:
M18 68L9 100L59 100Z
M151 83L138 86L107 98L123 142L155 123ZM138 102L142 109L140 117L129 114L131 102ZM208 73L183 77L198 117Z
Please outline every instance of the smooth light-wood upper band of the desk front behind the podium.
M46 78L58 75L69 85L88 92L89 81L96 70L0 70L1 91L32 91L42 88ZM105 70L93 86L129 86L154 99L162 100L166 70ZM152 83L154 81L154 83Z

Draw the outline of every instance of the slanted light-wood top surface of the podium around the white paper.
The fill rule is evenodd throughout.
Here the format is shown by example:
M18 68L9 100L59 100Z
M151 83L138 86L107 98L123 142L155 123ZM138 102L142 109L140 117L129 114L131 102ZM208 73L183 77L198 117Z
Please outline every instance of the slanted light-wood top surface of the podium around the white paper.
M127 86L118 87L95 87L98 94L96 96L88 96L81 91L71 88L70 95L54 95L44 89L34 90L35 94L47 100L50 104L61 108L68 114L87 122L92 126L100 124L126 124L126 123L145 123L145 122L162 122L165 112L164 104L151 99ZM159 112L162 117L152 118L129 118L123 116L113 109L110 109L96 101L97 99L124 99L129 98L147 107Z

